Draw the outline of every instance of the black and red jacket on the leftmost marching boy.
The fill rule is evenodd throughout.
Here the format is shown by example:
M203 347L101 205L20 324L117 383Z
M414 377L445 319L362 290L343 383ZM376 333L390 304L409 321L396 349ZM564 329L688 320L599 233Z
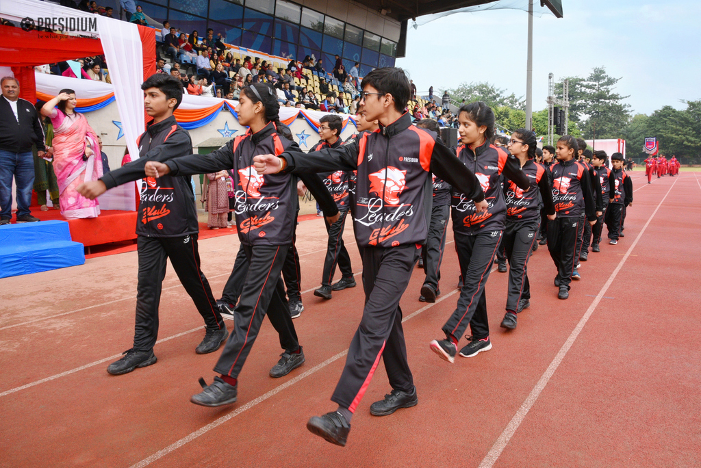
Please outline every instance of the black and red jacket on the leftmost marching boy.
M102 181L107 188L146 177L148 161L168 160L192 154L190 134L170 116L149 123L137 139L139 159L107 172ZM175 238L199 232L195 194L190 177L168 174L158 179L147 177L141 189L136 233L151 238Z

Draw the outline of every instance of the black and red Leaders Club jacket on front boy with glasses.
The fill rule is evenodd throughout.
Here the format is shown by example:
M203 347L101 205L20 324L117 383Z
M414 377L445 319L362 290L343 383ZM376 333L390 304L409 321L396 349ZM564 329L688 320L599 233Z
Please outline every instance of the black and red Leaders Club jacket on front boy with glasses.
M337 149L314 153L285 151L285 172L358 170L351 197L355 238L361 247L423 245L432 208L430 174L465 193L484 200L475 174L436 142L436 134L411 125L402 114L390 125L367 132Z

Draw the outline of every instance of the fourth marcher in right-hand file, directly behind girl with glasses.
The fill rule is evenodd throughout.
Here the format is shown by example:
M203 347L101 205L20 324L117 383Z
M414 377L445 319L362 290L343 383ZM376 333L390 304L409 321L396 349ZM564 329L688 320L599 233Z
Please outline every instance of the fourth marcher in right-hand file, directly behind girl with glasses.
M577 264L577 233L584 212L590 224L597 222L589 171L576 162L578 144L574 137L564 135L557 140L557 163L550 167L552 201L557 216L547 223L547 249L557 267L554 284L557 297L569 298L572 272Z

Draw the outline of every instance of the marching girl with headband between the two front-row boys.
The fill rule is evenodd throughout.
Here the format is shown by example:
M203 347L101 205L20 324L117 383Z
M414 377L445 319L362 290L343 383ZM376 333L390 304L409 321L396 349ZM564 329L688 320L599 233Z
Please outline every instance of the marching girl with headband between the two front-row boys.
M294 234L297 179L290 174L263 176L257 174L253 166L257 154L280 154L286 149L299 149L292 140L290 129L280 123L279 109L272 86L254 83L241 90L236 108L239 123L249 127L245 135L231 139L226 146L207 155L193 154L168 160L165 164L149 161L146 165L146 172L151 177L166 174L189 176L228 167L233 169L234 186L241 188L234 212L238 238L249 267L238 305L233 310L231 337L215 365L220 376L215 377L211 385L205 385L200 379L203 391L190 399L201 406L236 402L238 374L266 315L278 331L280 346L284 350L270 376L285 376L305 361L280 276ZM315 195L322 195L325 191L320 180L316 184L312 179L308 182L311 184L308 188ZM322 206L322 209L335 210L336 207Z

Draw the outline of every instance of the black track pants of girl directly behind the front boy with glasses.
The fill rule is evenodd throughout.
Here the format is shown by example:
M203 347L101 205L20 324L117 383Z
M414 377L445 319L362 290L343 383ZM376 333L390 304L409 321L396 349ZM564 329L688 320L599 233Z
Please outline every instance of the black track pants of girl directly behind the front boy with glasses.
M486 231L477 235L455 233L455 248L460 261L463 289L460 291L453 315L443 326L446 336L459 339L465 333L468 324L472 329L472 336L489 336L484 284L489 279L501 238L501 230Z

